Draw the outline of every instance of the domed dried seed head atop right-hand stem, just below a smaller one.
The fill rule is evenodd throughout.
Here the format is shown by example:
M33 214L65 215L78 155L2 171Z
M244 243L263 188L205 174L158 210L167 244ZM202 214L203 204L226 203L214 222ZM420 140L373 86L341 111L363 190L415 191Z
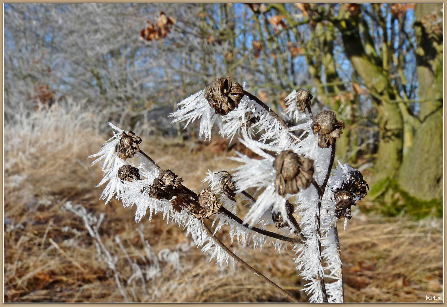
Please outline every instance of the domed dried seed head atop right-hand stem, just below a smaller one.
M318 134L318 146L321 148L328 148L335 143L335 139L340 137L344 128L345 123L337 120L333 111L321 111L314 117L312 123L313 133Z

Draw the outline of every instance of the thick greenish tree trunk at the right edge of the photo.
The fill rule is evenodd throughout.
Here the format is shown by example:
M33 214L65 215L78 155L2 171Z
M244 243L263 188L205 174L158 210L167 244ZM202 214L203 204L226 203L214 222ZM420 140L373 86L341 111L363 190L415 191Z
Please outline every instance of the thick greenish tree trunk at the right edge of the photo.
M414 25L422 121L399 171L400 187L419 199L443 197L443 4L417 4Z

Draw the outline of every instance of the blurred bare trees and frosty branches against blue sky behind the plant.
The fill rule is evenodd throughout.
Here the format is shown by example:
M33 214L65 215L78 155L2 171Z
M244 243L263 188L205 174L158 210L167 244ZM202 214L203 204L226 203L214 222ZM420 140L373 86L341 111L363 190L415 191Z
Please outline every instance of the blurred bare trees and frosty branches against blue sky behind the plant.
M363 208L442 216L443 4L4 4L5 125L70 97L186 140L167 116L217 76L279 113L310 89L346 123Z

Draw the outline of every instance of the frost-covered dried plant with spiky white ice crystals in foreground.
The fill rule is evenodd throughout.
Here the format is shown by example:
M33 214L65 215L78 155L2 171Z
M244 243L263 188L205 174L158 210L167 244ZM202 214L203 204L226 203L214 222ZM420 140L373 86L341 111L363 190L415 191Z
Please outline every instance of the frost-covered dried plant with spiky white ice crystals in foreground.
M245 85L244 85L245 87ZM237 257L218 238L223 225L229 237L240 245L253 243L253 249L273 244L278 253L295 251L296 269L306 281L304 290L311 302L343 302L343 280L337 220L351 218L352 205L367 193L367 183L357 170L334 162L336 139L344 123L332 111L315 117L308 90L292 91L287 108L278 116L256 96L243 90L230 78L217 78L207 88L181 101L171 114L173 122L186 125L200 119L199 136L211 141L211 128L217 122L219 133L239 141L261 158L236 152L231 159L240 166L213 172L203 179L207 184L198 194L182 184L171 170L162 170L139 149L141 139L132 131L110 124L114 136L101 151L89 158L103 160L106 184L101 195L106 203L121 199L125 207L136 205L135 221L148 214L163 212L168 222L186 228L203 253L211 253L222 266L233 257L297 302L292 295ZM186 127L186 126L185 126ZM139 156L138 163L131 158ZM257 198L247 192L255 188ZM237 216L235 196L249 202L250 210ZM211 227L203 219L212 219ZM211 260L210 259L210 260ZM331 282L328 282L328 281Z

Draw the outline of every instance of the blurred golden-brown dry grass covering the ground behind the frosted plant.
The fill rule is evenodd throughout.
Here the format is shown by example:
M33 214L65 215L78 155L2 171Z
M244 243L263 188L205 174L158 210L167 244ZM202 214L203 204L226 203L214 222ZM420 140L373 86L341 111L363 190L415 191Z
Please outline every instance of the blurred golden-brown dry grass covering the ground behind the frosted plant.
M94 188L102 173L97 166L89 167L85 159L97 152L104 139L93 130L84 130L84 134L81 128L74 132L82 142L53 146L37 135L32 146L5 149L5 302L124 301L113 270L104 259L98 259L84 221L61 210L67 200L82 205L93 216L105 213L99 234L106 249L118 257L116 271L130 302L286 301L238 264L221 269L208 262L208 256L191 245L192 240L181 229L166 224L161 216L135 224L134 208L123 208L116 200L104 207L103 201L98 201L101 189ZM46 137L51 139L51 133ZM224 145L219 142L204 145L152 138L144 140L142 148L196 190L202 188L200 181L208 168L228 170L236 165L226 158L228 153L222 152ZM158 275L144 285L138 278L127 282L134 272L129 259L143 271L153 265L146 257L147 245L139 227L143 227L152 253L178 255L181 265L159 257ZM442 295L442 231L440 220L419 222L358 213L345 232L339 231L346 301L425 302L425 295ZM228 229L219 236L230 245L227 234ZM116 235L125 251L115 241ZM307 300L299 291L302 282L294 270L293 253L279 255L272 247L262 253L238 245L231 248L300 300Z

